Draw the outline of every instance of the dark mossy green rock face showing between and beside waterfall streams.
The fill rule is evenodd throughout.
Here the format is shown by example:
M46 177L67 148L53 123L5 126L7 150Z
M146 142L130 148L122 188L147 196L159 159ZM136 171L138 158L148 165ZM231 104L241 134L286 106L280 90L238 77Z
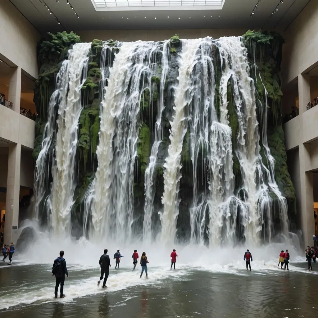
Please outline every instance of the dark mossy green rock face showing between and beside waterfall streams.
M282 118L281 118L281 97L282 92L280 90L280 62L281 62L281 48L283 40L279 34L248 31L243 36L243 41L248 51L248 57L250 59L251 77L255 80L256 97L258 100L265 104L267 91L267 103L268 103L268 146L272 152L275 165L275 176L277 184L281 193L287 198L288 213L296 213L295 204L295 191L294 186L290 180L290 176L287 170L286 164L286 150L284 146L284 132L282 130ZM49 98L55 87L56 75L61 66L61 62L67 58L67 51L73 44L79 43L80 38L75 33L48 33L48 39L42 40L39 43L39 55L38 61L40 66L39 77L35 87L34 102L37 106L38 119L35 127L35 145L33 150L33 157L36 160L40 151L41 142L43 138L43 132L47 121L48 103ZM100 97L103 93L100 87L101 79L103 75L108 74L109 67L115 58L115 54L120 50L120 45L117 41L107 41L109 49L106 51L105 67L101 71L101 52L104 46L104 42L100 40L93 40L91 45L91 52L89 58L88 77L82 86L82 104L83 109L79 117L79 142L77 151L77 187L74 195L73 206L73 233L75 236L79 236L80 230L78 227L83 223L83 204L82 200L86 193L87 187L93 180L96 172L98 162L96 158L96 148L99 142L99 130L100 130ZM156 166L156 194L154 205L156 210L162 209L161 197L163 194L163 164L167 157L169 140L169 130L171 128L170 122L173 119L173 106L174 106L174 94L172 85L176 83L179 69L178 54L182 50L182 43L177 35L170 39L169 43L169 70L167 73L167 79L164 87L164 103L165 109L162 114L163 123L163 139L158 150L158 160ZM255 55L254 55L255 54ZM215 107L220 116L220 97L218 87L221 77L221 60L218 48L215 48L213 52L213 64L215 69ZM136 219L133 227L136 231L142 231L142 213L144 204L144 174L149 162L149 156L151 151L151 145L154 140L154 123L156 120L157 102L160 93L161 85L161 65L159 65L161 57L154 57L152 62L157 63L156 75L151 78L151 93L149 89L145 89L140 100L140 129L139 138L137 142L137 160L135 162L135 183L134 183L134 217ZM254 64L256 61L256 64ZM257 80L261 77L261 81ZM107 81L105 83L107 85ZM228 100L228 120L230 127L232 128L232 144L233 144L233 173L235 176L235 188L239 192L241 186L241 169L237 155L234 151L236 138L238 133L238 118L235 106L232 102L232 86L231 78L228 81L227 100ZM258 114L259 115L259 114ZM262 137L262 136L260 136ZM52 143L54 145L54 142ZM192 180L192 162L190 159L190 130L183 140L183 149L181 153L181 165L182 165L182 178L180 181L180 207L179 210L189 211L190 204L193 196L193 180ZM53 153L53 150L52 150ZM200 160L198 160L198 171L201 174L199 176L202 183L200 184L201 190L208 189L208 180L206 173L204 173L204 149L200 149ZM266 165L265 158L263 157L263 163ZM47 184L52 181L52 176L47 176ZM242 191L241 191L242 192ZM244 196L244 193L242 193ZM43 202L43 208L45 209L45 202ZM158 219L158 216L154 216ZM180 213L177 220L178 236L181 239L189 238L189 213ZM154 220L155 222L156 220ZM21 233L18 241L19 244L24 244L23 239L25 236L34 236L31 228L26 228ZM23 235L22 235L23 234ZM22 245L24 246L24 245Z

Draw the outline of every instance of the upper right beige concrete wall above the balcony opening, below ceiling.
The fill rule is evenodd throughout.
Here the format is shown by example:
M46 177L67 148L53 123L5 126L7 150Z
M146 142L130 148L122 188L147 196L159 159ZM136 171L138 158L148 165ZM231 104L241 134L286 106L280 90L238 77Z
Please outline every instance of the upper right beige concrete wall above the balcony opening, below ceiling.
M318 62L318 1L311 0L284 33L283 84Z

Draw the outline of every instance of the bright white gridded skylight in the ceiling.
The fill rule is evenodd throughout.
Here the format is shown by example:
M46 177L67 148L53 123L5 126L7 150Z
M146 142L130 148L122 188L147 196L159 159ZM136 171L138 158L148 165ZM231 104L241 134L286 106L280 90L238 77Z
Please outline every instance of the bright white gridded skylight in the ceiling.
M225 0L92 0L95 9L109 10L114 8L130 10L171 10L172 7L186 9L185 7L199 9L198 7L211 7L211 9L222 9ZM129 10L129 9L128 9Z

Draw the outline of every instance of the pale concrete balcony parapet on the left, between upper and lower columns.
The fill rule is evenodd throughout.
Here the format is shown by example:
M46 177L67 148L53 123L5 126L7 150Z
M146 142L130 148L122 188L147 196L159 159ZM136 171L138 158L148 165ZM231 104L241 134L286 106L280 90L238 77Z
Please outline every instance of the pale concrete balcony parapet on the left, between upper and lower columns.
M0 138L33 149L35 121L0 105Z

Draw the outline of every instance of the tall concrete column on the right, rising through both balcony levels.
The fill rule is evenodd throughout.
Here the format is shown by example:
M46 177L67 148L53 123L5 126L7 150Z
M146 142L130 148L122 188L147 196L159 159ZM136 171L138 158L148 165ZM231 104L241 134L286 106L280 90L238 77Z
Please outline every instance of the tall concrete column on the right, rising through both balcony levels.
M314 220L314 188L313 173L306 172L306 167L310 163L310 154L306 144L303 143L303 120L302 114L306 112L306 105L310 101L309 74L298 75L298 94L299 94L299 171L300 171L300 190L299 197L301 202L301 231L303 233L304 246L313 245L313 235L315 234Z

